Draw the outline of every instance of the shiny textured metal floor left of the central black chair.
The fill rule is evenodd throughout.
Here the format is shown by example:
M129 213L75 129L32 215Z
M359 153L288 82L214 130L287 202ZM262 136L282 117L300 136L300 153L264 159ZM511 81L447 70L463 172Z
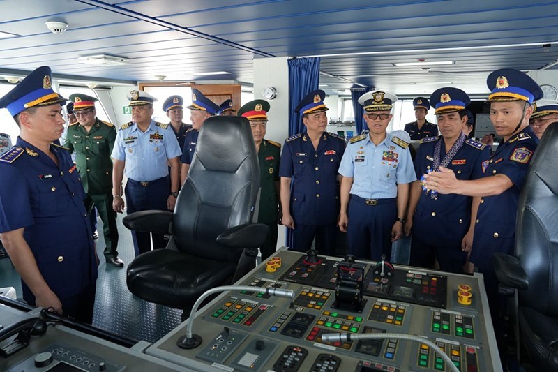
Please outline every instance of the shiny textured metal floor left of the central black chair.
M128 291L126 267L134 258L134 247L130 230L122 225L122 214L119 214L118 225L118 251L124 267L107 264L103 256L103 235L97 240L100 265L93 325L120 336L153 343L181 323L182 311L146 302ZM98 231L103 231L100 219ZM17 298L22 297L20 276L8 259L0 260L0 288L3 287L14 287Z

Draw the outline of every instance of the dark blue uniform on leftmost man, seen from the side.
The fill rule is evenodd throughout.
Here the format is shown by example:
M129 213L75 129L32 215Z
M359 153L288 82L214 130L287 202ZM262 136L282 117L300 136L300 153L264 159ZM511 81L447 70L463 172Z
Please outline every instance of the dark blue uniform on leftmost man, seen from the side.
M58 166L21 137L0 156L0 232L24 228L40 274L59 297L64 315L75 317L90 306L92 317L97 262L86 195L68 150L56 144L50 149ZM23 281L22 290L24 300L34 305ZM80 302L89 303L76 304L84 292L92 297Z

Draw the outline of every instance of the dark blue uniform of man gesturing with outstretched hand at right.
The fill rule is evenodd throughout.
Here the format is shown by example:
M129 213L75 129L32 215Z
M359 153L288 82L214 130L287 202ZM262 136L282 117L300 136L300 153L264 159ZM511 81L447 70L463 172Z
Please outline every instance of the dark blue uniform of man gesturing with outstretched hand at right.
M469 261L481 272L493 271L493 253L513 255L519 193L537 144L537 137L531 127L527 126L500 144L490 161L483 164L485 177L505 174L513 186L500 195L483 197L478 207Z

